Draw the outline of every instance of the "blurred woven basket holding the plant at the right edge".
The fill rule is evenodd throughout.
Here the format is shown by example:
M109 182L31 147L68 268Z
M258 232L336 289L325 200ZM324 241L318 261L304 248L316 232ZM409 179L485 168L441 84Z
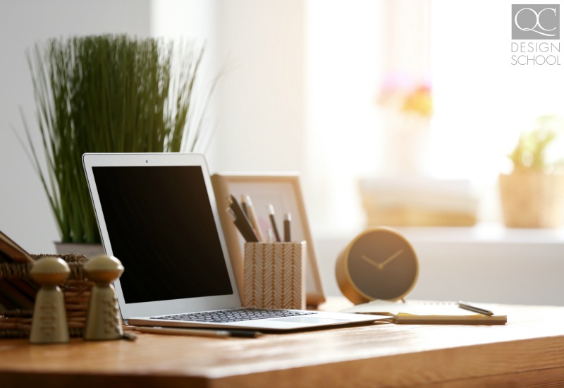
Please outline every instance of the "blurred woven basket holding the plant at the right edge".
M516 170L499 176L503 222L510 228L558 228L564 217L564 175Z

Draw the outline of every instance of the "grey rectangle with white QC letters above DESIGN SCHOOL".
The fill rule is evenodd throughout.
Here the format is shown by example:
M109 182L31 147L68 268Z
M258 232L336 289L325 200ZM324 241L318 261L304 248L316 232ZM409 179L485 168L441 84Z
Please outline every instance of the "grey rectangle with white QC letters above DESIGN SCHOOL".
M511 39L560 39L560 4L512 4Z

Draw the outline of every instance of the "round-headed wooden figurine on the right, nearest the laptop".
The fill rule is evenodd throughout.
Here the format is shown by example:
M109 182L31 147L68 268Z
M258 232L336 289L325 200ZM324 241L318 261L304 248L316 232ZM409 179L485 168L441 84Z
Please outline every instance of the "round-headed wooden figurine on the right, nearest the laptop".
M88 303L84 339L121 339L118 299L111 282L121 276L123 265L114 256L99 255L88 260L84 269L88 279L95 283Z

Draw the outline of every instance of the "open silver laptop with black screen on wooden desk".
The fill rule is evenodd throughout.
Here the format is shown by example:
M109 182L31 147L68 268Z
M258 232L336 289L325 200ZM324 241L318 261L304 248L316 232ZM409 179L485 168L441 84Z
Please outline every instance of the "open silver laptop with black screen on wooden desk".
M245 309L203 155L84 154L126 325L283 331L374 322L383 316Z

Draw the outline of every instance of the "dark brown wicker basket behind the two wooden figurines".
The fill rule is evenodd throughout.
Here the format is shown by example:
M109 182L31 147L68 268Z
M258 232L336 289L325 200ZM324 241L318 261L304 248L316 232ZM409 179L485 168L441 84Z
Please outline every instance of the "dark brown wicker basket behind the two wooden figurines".
M82 337L85 327L90 291L94 283L87 281L82 267L88 258L84 255L32 255L35 259L46 256L61 257L71 268L67 281L60 286L65 296L68 330L71 337ZM27 279L32 264L0 263L0 279ZM30 336L32 310L0 310L0 338L27 338Z

